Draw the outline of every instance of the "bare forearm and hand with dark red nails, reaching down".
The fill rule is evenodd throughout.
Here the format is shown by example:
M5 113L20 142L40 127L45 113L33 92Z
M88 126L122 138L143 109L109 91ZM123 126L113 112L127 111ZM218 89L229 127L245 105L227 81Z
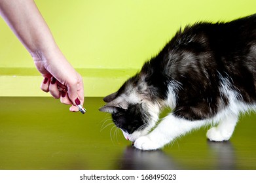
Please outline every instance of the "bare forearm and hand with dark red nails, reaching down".
M31 54L44 77L41 89L78 111L84 103L82 77L58 48L34 1L1 0L0 15ZM79 109L76 107L80 107Z

